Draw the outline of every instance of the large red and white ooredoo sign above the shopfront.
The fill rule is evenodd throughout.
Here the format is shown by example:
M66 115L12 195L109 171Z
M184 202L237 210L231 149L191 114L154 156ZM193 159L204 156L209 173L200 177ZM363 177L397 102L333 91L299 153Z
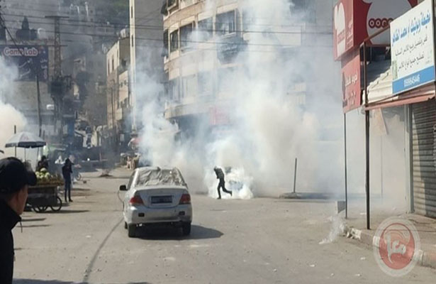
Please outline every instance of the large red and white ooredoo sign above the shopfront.
M339 0L333 10L335 60L416 5L418 0ZM372 38L370 43L389 45L389 31Z

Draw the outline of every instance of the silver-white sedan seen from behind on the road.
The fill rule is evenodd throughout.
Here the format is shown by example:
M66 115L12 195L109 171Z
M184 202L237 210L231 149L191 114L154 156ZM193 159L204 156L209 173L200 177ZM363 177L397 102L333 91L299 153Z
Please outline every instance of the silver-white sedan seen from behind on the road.
M191 234L192 206L188 186L177 168L137 168L130 176L123 202L124 226L134 237L138 226L168 224Z

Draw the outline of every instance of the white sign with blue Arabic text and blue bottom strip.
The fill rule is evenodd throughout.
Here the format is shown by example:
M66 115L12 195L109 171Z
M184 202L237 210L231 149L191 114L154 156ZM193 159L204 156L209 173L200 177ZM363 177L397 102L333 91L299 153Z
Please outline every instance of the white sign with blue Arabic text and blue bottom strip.
M393 94L435 81L433 18L426 0L391 23Z

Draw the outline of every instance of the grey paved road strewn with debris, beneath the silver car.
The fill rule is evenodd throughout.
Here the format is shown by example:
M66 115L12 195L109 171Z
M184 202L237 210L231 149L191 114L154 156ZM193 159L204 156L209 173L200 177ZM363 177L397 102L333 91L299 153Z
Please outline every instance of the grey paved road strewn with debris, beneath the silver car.
M385 275L370 249L340 237L330 202L213 200L194 195L189 238L161 229L129 239L117 187L128 177L89 178L60 213L23 216L16 238L15 283L433 283L416 267ZM78 196L77 196L78 195Z

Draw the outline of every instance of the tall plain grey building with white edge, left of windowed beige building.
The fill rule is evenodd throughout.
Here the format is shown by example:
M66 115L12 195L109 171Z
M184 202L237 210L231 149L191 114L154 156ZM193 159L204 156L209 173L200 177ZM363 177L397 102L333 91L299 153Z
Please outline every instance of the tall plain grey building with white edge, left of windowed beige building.
M141 127L145 81L164 82L162 60L162 0L130 0L130 70L133 128Z

